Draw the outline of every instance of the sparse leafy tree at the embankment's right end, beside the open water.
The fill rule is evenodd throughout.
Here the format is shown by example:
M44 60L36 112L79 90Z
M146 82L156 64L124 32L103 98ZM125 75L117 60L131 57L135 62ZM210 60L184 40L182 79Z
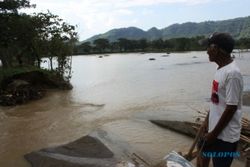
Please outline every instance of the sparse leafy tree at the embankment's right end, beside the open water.
M74 43L77 40L75 27L62 21L57 15L53 15L49 11L47 13L38 13L36 16L38 28L38 39L36 42L46 44L40 46L35 45L34 50L38 57L48 57L50 61L50 69L54 70L53 62L57 60L56 72L63 75L64 72L71 71L71 56ZM36 44L34 42L34 44ZM40 52L43 49L44 52ZM40 55L39 55L40 54Z

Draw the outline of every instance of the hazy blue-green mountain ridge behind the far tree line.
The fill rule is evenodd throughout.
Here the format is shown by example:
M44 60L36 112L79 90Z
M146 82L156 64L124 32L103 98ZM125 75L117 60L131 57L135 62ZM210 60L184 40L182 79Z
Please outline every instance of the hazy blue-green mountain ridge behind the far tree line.
M113 42L119 38L138 40L170 39L178 37L194 37L198 35L209 35L213 32L229 32L235 38L250 38L250 16L235 18L223 21L205 21L201 23L187 22L183 24L173 24L163 29L155 27L148 31L143 31L137 27L112 29L104 34L95 35L83 42L94 41L98 38L106 38Z

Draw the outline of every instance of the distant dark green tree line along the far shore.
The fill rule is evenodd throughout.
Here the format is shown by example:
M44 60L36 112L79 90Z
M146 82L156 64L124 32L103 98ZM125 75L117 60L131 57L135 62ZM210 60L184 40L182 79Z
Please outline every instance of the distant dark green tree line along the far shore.
M147 41L146 39L129 40L119 38L115 42L99 38L91 42L83 42L75 47L74 54L93 53L116 53L116 52L173 52L173 51L200 51L206 50L199 41L205 36L193 38L172 38L167 40L157 39ZM250 38L236 40L236 48L250 48Z

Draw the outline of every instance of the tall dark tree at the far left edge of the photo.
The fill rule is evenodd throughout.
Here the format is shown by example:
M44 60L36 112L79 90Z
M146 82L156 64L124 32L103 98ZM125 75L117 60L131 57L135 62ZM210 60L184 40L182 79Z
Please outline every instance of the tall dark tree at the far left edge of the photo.
M19 59L26 48L20 45L27 42L25 35L30 32L31 18L19 14L18 9L34 7L27 0L3 0L0 2L0 60L4 68L11 67L15 59ZM28 33L27 33L28 32ZM29 36L30 37L30 36Z

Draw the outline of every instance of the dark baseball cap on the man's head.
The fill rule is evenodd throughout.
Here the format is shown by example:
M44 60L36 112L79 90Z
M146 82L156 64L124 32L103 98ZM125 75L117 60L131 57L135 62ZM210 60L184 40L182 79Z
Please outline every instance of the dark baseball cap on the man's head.
M223 49L227 53L231 53L234 49L235 41L229 33L219 33L215 32L199 42L202 46L208 47L211 44L217 45L219 48Z

